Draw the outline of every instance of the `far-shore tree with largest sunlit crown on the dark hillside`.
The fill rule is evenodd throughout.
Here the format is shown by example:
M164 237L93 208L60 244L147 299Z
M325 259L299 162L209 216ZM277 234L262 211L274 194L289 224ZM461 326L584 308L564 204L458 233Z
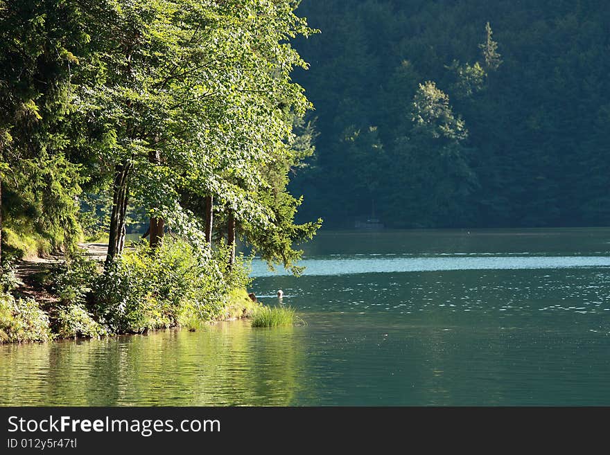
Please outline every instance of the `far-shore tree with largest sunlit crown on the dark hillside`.
M454 114L446 93L430 81L419 85L408 115L412 129L397 139L391 156L391 180L403 194L385 203L409 220L405 227L469 221L462 204L476 176L463 145L468 136L463 119Z

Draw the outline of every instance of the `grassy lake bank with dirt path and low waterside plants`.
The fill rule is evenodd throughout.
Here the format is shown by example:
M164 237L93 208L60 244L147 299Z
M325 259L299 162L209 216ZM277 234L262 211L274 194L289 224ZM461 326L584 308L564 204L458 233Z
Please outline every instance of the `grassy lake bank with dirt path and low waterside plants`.
M116 301L119 306L110 313L103 307L100 312L98 306L104 303L94 296L89 284L90 277L101 272L104 245L80 243L79 247L81 255L66 270L62 270L66 262L59 255L22 258L6 269L0 282L0 345L113 337L167 328L196 330L204 324L250 318L262 307L250 298L246 287L235 283L236 287L211 294L213 297L185 291L180 303L176 296L168 301L166 296L142 295L137 313L125 313L130 318L128 324L116 325L109 314L121 311L121 301ZM197 301L207 299L207 305L198 306Z

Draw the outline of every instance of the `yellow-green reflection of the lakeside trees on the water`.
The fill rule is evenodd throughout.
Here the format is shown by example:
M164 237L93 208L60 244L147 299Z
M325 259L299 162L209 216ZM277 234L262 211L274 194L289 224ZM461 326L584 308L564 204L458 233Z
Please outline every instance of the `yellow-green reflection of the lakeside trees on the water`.
M0 404L288 405L305 361L298 330L222 323L195 333L2 346Z

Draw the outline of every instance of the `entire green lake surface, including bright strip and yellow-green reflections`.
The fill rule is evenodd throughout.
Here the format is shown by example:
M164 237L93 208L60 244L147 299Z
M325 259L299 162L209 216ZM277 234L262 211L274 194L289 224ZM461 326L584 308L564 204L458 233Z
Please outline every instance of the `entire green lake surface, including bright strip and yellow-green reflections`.
M0 404L609 405L610 229L320 233L308 325L0 347Z

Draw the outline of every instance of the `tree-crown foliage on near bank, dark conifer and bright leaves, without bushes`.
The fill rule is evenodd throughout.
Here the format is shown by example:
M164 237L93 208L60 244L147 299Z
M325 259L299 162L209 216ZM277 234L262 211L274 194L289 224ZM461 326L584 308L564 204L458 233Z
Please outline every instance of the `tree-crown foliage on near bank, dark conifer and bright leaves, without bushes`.
M311 105L290 78L295 66L307 65L289 40L313 33L296 6L292 0L8 3L0 10L8 226L28 220L53 249L71 252L82 227L88 238L101 231L99 202L122 172L111 220L121 215L111 238L136 200L138 209L163 217L203 248L202 214L180 205L186 191L214 195L221 210L279 235L286 249L298 235L284 239L287 220L275 219L264 195L273 186L270 167L286 173L286 161L297 166L295 157L313 152L293 134L302 127L302 136L313 136L311 125L299 124ZM84 186L93 197L81 197ZM290 254L288 247L284 256Z

